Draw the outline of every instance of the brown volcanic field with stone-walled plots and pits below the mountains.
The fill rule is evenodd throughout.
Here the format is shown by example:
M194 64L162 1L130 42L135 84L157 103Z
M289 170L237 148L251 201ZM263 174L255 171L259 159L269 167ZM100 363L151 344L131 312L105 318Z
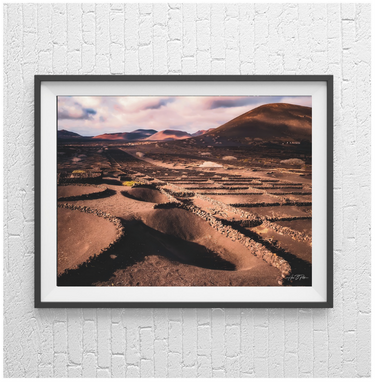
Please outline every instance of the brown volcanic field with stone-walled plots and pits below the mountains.
M182 143L59 145L58 285L311 285L311 166Z

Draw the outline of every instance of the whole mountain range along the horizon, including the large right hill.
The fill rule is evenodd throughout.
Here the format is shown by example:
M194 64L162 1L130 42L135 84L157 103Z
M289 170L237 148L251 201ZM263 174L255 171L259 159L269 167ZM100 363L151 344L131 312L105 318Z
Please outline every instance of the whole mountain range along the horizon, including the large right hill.
M311 108L295 104L274 103L254 108L218 128L193 134L166 129L137 129L132 132L105 133L88 137L66 130L58 131L59 140L121 141L191 141L199 137L200 145L233 145L252 141L311 141Z

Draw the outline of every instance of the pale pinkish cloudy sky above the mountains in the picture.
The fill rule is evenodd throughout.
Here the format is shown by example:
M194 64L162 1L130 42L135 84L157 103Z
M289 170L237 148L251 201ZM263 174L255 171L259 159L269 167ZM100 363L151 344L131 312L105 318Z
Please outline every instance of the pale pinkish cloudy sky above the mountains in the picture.
M310 96L59 96L58 129L96 136L136 129L194 133L263 104L311 107Z

